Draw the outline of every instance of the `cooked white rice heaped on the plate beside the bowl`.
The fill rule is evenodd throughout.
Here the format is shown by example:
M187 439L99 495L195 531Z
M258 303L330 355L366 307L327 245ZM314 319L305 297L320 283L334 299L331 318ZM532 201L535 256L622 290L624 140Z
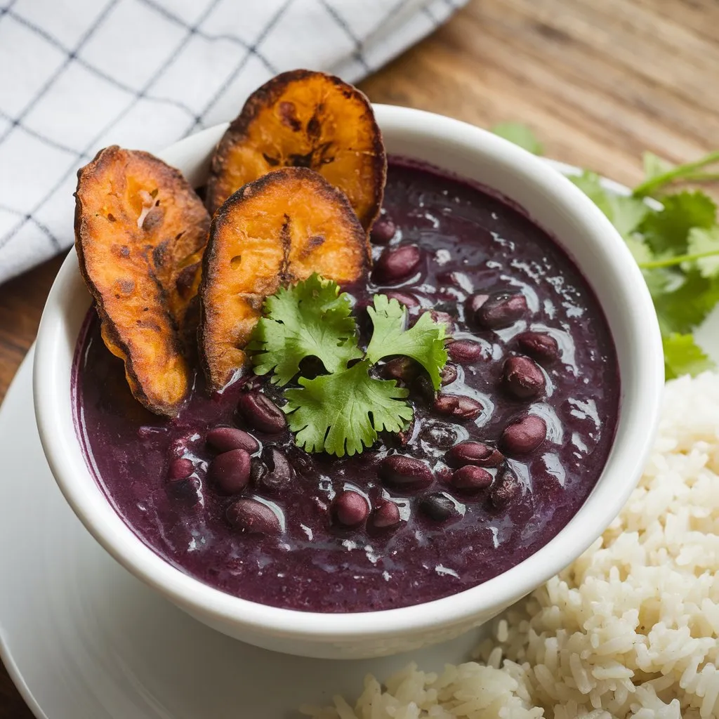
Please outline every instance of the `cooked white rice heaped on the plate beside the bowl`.
M603 537L508 610L477 661L365 679L315 719L719 715L719 375L667 384L654 452Z

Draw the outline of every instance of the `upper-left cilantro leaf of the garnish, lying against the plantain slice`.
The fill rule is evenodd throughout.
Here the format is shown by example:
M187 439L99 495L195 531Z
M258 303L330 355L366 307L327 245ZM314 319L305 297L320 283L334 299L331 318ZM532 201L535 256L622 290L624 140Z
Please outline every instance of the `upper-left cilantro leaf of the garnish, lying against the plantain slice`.
M272 381L286 385L300 371L305 357L317 357L328 372L359 359L357 327L347 293L339 286L311 275L290 288L280 288L265 300L265 317L252 336L250 349L257 375L275 370Z

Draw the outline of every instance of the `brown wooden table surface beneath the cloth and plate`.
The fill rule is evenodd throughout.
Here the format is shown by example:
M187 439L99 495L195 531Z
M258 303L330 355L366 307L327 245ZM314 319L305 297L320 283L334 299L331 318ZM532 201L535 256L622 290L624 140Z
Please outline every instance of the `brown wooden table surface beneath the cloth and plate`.
M719 147L717 78L715 0L470 0L362 88L482 127L524 122L547 155L631 184L643 150L684 162ZM0 288L0 399L61 260ZM0 669L0 719L29 717Z

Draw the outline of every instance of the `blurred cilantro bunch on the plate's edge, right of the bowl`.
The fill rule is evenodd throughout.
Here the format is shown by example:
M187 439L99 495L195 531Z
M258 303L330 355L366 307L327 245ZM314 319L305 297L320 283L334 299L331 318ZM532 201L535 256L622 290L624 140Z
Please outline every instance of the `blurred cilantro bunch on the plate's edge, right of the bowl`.
M493 132L541 154L531 129L505 123ZM678 166L645 152L644 181L628 196L605 190L587 170L569 178L610 219L641 267L659 319L667 379L714 367L692 333L719 302L717 206L706 193L681 187L719 180L706 170L710 165L719 165L719 152Z

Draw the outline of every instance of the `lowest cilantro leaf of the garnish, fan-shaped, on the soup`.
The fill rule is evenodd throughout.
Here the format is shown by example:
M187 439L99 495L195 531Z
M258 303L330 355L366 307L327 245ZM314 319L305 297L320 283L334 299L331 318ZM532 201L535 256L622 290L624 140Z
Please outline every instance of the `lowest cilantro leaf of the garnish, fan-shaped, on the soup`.
M370 366L363 359L331 375L301 377L301 388L285 390L283 409L298 446L351 457L372 446L378 432L398 432L411 421L412 408L403 402L408 390L370 377Z

